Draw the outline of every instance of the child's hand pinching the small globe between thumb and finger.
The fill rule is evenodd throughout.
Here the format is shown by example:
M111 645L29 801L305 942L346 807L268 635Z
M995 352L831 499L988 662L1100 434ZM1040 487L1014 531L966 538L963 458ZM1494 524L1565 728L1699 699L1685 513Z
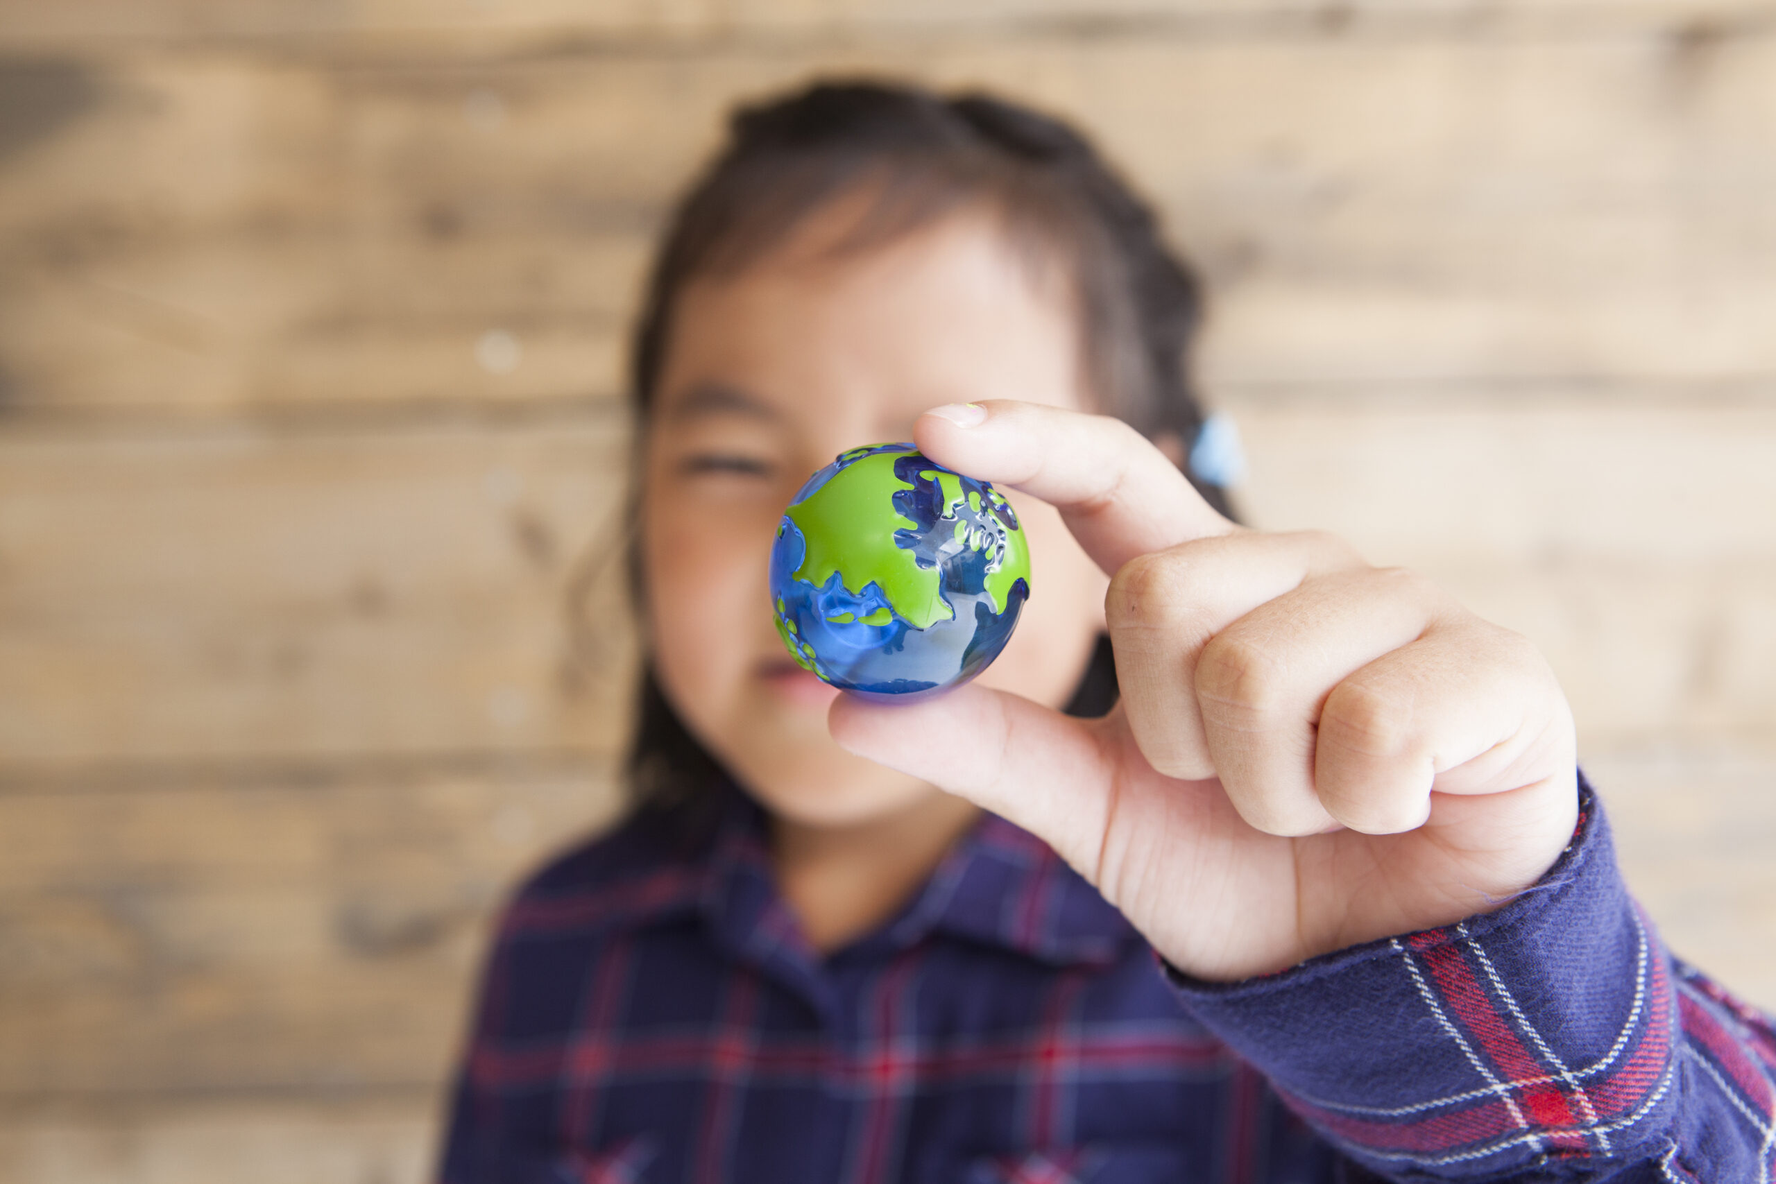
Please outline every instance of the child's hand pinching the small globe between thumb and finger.
M1334 538L1236 527L1115 419L984 407L918 446L1062 511L1114 577L1122 703L842 696L840 744L1041 836L1199 978L1447 925L1554 863L1574 726L1527 641Z

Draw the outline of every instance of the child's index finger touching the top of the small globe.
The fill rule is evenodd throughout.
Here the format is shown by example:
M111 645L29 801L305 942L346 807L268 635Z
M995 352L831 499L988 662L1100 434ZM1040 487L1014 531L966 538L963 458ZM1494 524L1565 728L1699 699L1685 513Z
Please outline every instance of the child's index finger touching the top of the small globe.
M1106 575L1137 556L1240 529L1153 442L1110 415L1016 399L955 403L920 415L913 438L940 465L1060 509Z

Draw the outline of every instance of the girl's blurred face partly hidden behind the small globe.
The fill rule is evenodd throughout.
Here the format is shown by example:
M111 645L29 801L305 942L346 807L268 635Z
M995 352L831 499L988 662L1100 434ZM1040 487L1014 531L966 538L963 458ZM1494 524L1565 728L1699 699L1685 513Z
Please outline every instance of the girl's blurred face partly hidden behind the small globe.
M819 257L831 224L678 295L643 462L661 687L760 801L806 825L868 822L936 790L833 744L836 691L783 651L767 561L789 499L844 449L913 438L941 403L1087 403L1064 284L1035 279L987 218ZM1032 596L980 682L1060 706L1103 628L1106 580L1051 508L1011 501Z

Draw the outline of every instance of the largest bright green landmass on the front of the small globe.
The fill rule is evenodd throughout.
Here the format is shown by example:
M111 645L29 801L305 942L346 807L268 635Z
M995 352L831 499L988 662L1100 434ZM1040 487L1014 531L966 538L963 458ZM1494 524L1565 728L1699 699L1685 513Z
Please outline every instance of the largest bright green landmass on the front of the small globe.
M895 492L913 488L893 472L893 463L908 454L876 453L852 462L785 513L808 547L796 568L797 580L821 588L838 572L838 579L852 593L861 593L865 584L874 582L908 625L931 628L934 621L954 618L955 611L943 598L941 573L918 566L916 556L893 538L893 524L918 525L893 509ZM860 529L872 522L884 527ZM995 602L1002 602L1000 595L995 595Z

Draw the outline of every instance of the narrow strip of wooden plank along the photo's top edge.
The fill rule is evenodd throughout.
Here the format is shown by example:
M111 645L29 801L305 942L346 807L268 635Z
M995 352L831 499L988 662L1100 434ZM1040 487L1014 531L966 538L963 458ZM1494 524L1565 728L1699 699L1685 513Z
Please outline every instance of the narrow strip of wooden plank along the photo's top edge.
M1762 4L1721 0L987 0L970 5L941 0L691 0L639 4L602 0L531 0L487 5L476 0L87 0L78 5L0 2L5 30L0 44L60 43L181 44L240 39L414 41L476 37L487 48L549 39L599 39L618 46L661 41L746 37L895 36L1035 36L1094 37L1105 34L1193 32L1199 36L1316 34L1352 37L1399 30L1442 36L1524 36L1609 32L1707 25L1733 30L1756 27Z

